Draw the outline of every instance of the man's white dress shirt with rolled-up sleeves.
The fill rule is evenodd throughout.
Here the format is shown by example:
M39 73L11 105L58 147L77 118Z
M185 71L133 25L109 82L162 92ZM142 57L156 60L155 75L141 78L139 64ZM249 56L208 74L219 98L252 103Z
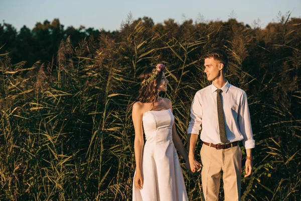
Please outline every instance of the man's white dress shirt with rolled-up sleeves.
M196 92L191 106L191 121L187 133L199 134L203 142L220 144L216 96L213 83ZM247 94L227 83L221 88L226 135L230 142L241 141L246 149L255 147ZM202 125L202 127L201 127Z

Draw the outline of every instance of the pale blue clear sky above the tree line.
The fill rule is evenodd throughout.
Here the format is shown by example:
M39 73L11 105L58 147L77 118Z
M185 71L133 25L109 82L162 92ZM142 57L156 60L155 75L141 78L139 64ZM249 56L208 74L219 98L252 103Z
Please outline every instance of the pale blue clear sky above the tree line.
M205 20L227 21L232 11L238 22L252 25L260 19L265 27L277 21L279 11L301 17L301 0L0 0L0 23L32 29L37 22L59 18L65 28L83 25L112 31L120 29L129 12L133 19L147 16L163 23L172 18L182 23L185 18L195 22L200 15Z

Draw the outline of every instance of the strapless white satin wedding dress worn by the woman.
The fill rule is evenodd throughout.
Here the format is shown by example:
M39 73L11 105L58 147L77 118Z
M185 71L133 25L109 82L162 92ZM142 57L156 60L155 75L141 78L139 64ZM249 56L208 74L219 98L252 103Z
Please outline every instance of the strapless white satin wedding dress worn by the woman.
M134 201L188 200L183 172L173 143L175 118L170 109L147 111L142 117L146 142L141 173L143 188L133 184Z

